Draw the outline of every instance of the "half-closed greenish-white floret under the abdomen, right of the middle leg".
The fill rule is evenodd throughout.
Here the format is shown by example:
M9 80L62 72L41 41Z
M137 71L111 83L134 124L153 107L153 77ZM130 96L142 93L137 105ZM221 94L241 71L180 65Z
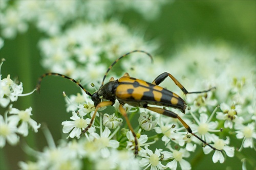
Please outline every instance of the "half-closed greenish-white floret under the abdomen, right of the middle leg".
M152 115L146 114L145 112L141 112L139 117L139 125L145 131L150 131L156 127L157 122L156 120L153 120Z

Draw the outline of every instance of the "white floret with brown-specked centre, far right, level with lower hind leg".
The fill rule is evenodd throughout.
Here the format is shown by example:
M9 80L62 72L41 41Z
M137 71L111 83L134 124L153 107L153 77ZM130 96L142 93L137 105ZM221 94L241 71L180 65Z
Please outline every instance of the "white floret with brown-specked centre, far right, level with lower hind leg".
M239 117L237 114L241 112L240 105L231 105L228 106L225 103L220 105L222 112L217 112L217 118L220 120L225 120L224 127L225 128L233 128L233 123L242 123L243 118Z

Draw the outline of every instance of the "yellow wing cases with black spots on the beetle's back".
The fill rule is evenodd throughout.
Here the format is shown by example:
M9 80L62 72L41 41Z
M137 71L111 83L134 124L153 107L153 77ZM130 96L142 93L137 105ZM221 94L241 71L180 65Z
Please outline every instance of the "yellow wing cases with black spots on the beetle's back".
M122 77L118 80L115 93L119 102L132 106L151 104L177 108L185 113L186 103L179 95L143 80Z

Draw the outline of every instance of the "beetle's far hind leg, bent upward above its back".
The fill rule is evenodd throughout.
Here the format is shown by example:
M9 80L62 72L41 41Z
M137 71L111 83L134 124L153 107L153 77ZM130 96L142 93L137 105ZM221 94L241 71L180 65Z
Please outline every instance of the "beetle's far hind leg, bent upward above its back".
M182 84L180 84L180 82L175 79L175 77L173 77L173 75L169 74L168 72L163 72L161 75L159 75L153 82L152 84L155 84L155 85L159 85L160 83L162 83L166 78L167 76L169 76L173 81L174 83L183 91L183 93L186 95L186 94L191 94L191 93L204 93L204 92L208 92L212 89L215 89L215 87L212 87L208 90L203 90L203 91L193 91L193 92L188 92L184 86L182 86Z

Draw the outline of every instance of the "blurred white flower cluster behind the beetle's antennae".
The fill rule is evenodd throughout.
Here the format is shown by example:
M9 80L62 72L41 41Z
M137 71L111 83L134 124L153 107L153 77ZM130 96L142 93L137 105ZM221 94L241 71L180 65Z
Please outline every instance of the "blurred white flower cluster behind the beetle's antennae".
M137 48L152 52L157 45L145 43L143 37L135 37L117 21L109 21L95 25L80 23L62 35L41 40L39 48L42 65L46 69L80 79L82 84L93 81L97 86L96 83L101 81L102 75L117 57ZM129 60L138 62L138 56L142 54L133 54ZM146 60L146 57L142 58ZM150 59L148 62L140 60L138 64L142 63L150 65Z

